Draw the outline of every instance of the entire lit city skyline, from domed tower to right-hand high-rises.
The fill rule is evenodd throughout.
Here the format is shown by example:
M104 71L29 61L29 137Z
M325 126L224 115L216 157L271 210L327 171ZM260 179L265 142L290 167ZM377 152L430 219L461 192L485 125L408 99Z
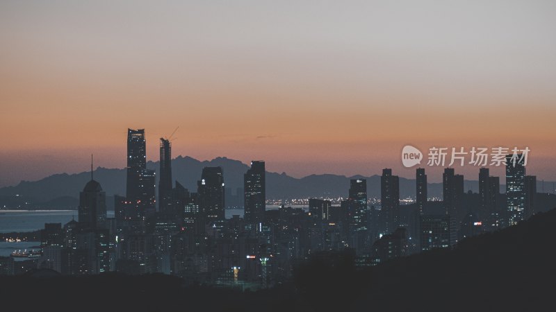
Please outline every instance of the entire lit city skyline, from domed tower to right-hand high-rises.
M479 194L465 193L464 176L445 168L443 200L431 201L425 169L418 168L416 201L400 205L400 179L385 168L379 206L369 207L367 181L359 178L350 181L340 205L311 198L308 211L266 210L265 163L253 161L243 176L244 218L227 219L221 167L204 167L190 191L172 180L172 144L161 138L157 196L145 143L145 130L128 130L126 194L114 197L114 218L107 217L106 193L91 168L79 222L44 229L42 266L75 275L164 272L190 281L268 286L291 276L299 259L347 249L359 264L371 265L449 248L466 236L514 225L535 207L536 177L525 175L523 163L510 162L512 155L505 194L488 168L480 168Z

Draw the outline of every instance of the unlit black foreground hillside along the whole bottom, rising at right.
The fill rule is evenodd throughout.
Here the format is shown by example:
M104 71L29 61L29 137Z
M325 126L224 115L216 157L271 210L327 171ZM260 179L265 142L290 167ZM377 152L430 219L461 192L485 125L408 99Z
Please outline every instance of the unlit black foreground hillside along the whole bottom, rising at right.
M554 311L556 210L500 232L355 270L312 261L291 284L240 293L109 274L1 277L2 311Z

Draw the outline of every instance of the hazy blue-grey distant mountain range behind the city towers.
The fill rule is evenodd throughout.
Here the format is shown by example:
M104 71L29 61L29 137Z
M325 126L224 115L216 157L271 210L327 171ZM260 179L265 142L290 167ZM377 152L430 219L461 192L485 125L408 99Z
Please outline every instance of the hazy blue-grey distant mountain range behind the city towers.
M218 157L211 161L199 161L192 157L181 157L172 160L172 177L179 181L190 191L197 190L197 180L201 177L202 168L205 166L222 166L224 170L224 182L230 187L232 193L236 189L243 188L243 174L249 166L238 160L226 157ZM158 162L147 162L147 168L153 169L158 175ZM94 171L95 180L100 182L108 197L114 194L125 195L126 169L97 168ZM355 175L345 177L344 175L308 175L297 179L286 175L286 173L266 173L266 195L268 199L291 199L291 198L339 198L347 197L350 188L350 179L367 179L369 198L380 197L380 175L364 177ZM71 208L76 207L79 192L90 180L90 172L76 174L61 173L50 175L42 180L28 182L22 181L14 187L3 187L0 189L0 204L6 205L10 200L17 200L16 195L21 196L22 201L31 201L33 204L45 208ZM466 191L478 191L478 182L466 180L464 189ZM500 189L505 189L500 185ZM442 184L430 183L428 185L430 198L441 198ZM415 196L415 180L400 177L400 198ZM108 199L108 207L112 202Z

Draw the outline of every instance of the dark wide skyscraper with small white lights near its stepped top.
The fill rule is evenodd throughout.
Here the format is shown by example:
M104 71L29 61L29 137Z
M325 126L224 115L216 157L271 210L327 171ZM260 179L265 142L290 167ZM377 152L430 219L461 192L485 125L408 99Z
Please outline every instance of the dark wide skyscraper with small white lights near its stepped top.
M224 175L222 167L204 167L201 180L197 182L199 209L206 222L224 220Z

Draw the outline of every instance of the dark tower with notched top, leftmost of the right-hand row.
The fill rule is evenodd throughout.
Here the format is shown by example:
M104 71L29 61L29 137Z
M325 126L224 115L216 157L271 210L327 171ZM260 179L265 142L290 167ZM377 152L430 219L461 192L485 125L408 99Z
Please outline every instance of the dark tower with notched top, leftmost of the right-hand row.
M400 179L398 175L392 175L392 169L382 169L380 177L380 204L381 214L384 218L384 233L395 231L399 225L400 218Z

